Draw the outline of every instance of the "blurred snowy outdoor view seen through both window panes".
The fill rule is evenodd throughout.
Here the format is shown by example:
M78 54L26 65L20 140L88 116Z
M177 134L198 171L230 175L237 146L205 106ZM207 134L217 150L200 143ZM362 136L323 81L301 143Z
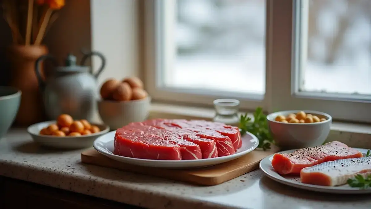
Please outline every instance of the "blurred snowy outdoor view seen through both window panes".
M371 94L371 20L365 15L371 13L371 3L362 4L365 1L310 0L310 8L324 4L314 20L318 31L308 43L312 58L303 71L306 91ZM224 6L217 6L217 2ZM176 32L181 51L168 71L166 84L264 94L265 1L178 3ZM334 62L325 64L329 55L325 44L338 33L339 17L344 14L353 18L351 25L335 52Z

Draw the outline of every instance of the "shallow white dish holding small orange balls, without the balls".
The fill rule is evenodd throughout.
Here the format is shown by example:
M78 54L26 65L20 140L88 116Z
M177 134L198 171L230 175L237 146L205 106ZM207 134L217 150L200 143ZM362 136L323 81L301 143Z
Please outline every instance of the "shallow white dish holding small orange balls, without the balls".
M62 149L81 149L81 148L87 148L91 147L93 145L94 140L107 133L109 131L109 127L106 125L99 125L94 124L98 126L98 128L101 130L98 133L89 134L89 135L82 135L82 136L49 136L49 135L40 135L40 131L43 128L46 128L47 126L51 124L55 124L55 120L51 121L45 121L41 123L35 123L33 125L30 125L27 128L27 132L32 136L33 141L47 146L47 147L54 147L54 148L62 148Z

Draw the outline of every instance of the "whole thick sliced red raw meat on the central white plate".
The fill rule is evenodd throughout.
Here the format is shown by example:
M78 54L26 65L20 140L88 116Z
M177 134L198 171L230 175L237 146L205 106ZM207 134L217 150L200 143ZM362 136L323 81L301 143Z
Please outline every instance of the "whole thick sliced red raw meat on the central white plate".
M115 154L146 159L221 157L234 154L239 147L237 127L205 120L146 120L117 129L115 136Z

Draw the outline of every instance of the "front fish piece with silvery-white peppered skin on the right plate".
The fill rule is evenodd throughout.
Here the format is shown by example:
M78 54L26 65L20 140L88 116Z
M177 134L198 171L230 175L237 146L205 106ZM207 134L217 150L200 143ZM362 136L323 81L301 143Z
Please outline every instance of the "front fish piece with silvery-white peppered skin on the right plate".
M300 172L300 179L306 184L339 186L346 184L348 179L358 174L363 177L371 174L371 155L328 161L303 168Z

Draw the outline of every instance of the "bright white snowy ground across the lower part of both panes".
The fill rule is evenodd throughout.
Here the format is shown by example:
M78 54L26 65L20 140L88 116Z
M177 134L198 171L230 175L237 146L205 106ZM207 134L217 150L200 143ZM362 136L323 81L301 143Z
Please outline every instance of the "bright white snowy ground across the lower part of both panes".
M206 88L242 93L265 92L263 47L234 56L195 54L178 57L168 83L176 87ZM369 59L371 60L371 58ZM330 65L308 62L304 71L307 91L371 94L371 63Z

